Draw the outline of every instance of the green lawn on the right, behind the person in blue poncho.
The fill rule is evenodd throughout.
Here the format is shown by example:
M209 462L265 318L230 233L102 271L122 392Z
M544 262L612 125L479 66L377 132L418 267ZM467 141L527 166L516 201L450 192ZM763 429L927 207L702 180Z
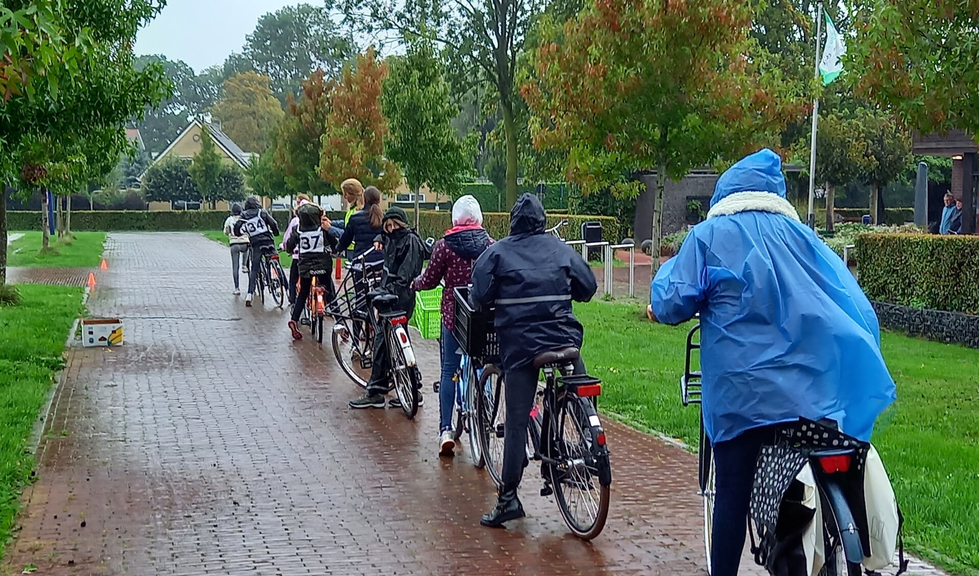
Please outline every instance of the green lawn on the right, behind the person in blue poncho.
M636 427L696 446L696 406L679 378L690 326L645 320L637 304L577 305L588 373L604 380L599 407ZM958 574L979 575L979 350L884 333L898 402L874 445L905 513L909 549Z

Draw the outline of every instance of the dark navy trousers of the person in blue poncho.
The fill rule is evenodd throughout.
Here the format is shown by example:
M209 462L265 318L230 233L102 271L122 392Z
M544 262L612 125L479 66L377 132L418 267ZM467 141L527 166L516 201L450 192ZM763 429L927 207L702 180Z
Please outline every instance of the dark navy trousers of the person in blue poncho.
M758 454L763 444L774 439L774 433L774 426L761 426L714 445L712 576L737 576L747 535Z

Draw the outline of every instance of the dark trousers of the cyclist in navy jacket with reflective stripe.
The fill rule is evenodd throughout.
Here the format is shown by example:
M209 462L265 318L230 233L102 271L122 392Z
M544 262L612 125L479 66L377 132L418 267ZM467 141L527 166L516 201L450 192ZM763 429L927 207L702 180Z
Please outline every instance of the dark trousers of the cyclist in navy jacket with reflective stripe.
M586 374L581 359L575 361L575 374ZM524 475L527 456L527 426L537 393L540 369L533 364L507 370L503 375L506 420L503 423L503 472L505 489L516 488ZM544 440L541 439L543 442Z

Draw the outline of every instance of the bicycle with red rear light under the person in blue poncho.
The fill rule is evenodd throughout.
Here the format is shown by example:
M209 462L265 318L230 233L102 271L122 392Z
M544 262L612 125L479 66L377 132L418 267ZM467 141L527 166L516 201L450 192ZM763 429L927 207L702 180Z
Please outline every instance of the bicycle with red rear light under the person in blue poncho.
M683 376L680 378L680 399L684 407L690 404L702 406L702 373L699 370L691 370L691 357L694 351L699 351L700 341L694 341L700 331L698 323L686 336L686 359L684 362ZM792 441L793 434L799 434L795 429L799 426L802 430L810 427L810 433L818 429L820 433L837 434L845 437L839 432L835 421L823 420L818 422L800 419L798 422L790 422L784 426L779 426L779 430L773 437L772 442L763 448L765 451L769 447L776 445L776 440ZM816 434L818 436L819 434ZM845 441L845 446L849 441ZM867 540L867 522L865 510L863 517L857 517L857 509L851 509L848 502L847 475L853 468L857 473L862 473L861 465L852 466L852 463L860 462L859 454L861 447L859 441L854 439L852 446L845 446L842 449L828 446L811 446L805 451L808 462L812 465L813 477L816 480L816 488L819 495L820 511L823 518L823 553L825 564L819 570L819 576L860 576L862 574L861 562L864 556L870 555L869 542ZM865 454L864 454L865 456ZM714 531L714 501L716 497L716 472L714 465L714 453L710 439L704 427L703 409L700 412L700 450L697 457L697 483L698 495L704 499L704 548L707 555L707 573L713 573L711 565L711 547L713 543ZM756 483L756 490L757 490ZM764 488L763 488L764 490ZM752 517L747 518L748 534L752 541L752 552L755 554L755 561L759 565L766 565L765 554L762 549L755 545L757 531L753 527ZM780 524L779 524L780 525ZM904 563L902 552L902 563Z

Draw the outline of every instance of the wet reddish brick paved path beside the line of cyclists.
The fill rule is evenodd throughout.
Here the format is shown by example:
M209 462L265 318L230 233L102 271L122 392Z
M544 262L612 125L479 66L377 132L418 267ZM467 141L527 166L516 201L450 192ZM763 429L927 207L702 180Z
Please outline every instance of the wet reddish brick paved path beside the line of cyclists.
M226 248L189 233L106 245L88 307L123 318L126 344L70 350L8 571L703 574L691 455L608 422L598 539L569 536L534 478L527 519L482 528L491 480L468 456L436 456L434 394L414 422L353 413L359 388L329 348L230 295ZM437 349L419 348L431 381Z

